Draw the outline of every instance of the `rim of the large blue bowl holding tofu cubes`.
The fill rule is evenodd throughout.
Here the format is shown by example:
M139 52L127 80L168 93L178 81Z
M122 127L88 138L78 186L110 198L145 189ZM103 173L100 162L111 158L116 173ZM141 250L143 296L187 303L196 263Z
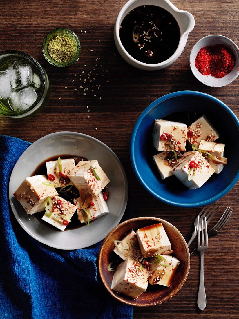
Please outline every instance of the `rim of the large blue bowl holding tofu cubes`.
M217 201L218 199L220 199L221 197L223 197L224 195L226 195L228 193L228 191L230 189L233 188L233 186L235 185L235 183L237 182L237 180L239 179L239 169L237 171L237 174L234 176L233 180L230 182L230 184L223 190L221 191L218 195L211 197L208 200L202 200L198 203L190 203L190 204L186 204L186 203L176 203L173 202L169 199L165 199L164 197L160 196L159 194L157 194L156 192L154 192L150 187L147 186L147 184L144 182L144 180L141 178L141 175L136 167L136 160L135 160L135 154L134 154L134 144L135 144L135 138L136 138L136 134L138 131L138 128L141 124L141 122L143 121L145 115L152 109L154 108L157 104L159 104L162 101L168 100L172 97L177 97L177 96L181 96L181 95L195 95L195 96L201 96L204 98L207 98L209 100L212 100L213 102L216 102L218 104L220 104L220 106L222 108L224 108L226 111L228 111L229 115L231 115L231 117L233 118L233 120L236 122L237 127L239 129L239 120L237 118L237 116L235 115L235 113L221 100L215 98L214 96L210 95L210 94L206 94L203 92L198 92L198 91L177 91L177 92L172 92L166 95L161 96L160 98L158 98L157 100L154 100L138 117L138 120L136 121L133 130L132 130L132 134L131 134L131 141L130 141L130 160L131 160L131 165L133 167L133 171L138 179L138 181L140 182L140 184L151 194L153 195L153 197L159 199L161 202L166 203L168 205L171 206L176 206L176 207L201 207L201 206L205 206L207 204L211 204L215 201Z

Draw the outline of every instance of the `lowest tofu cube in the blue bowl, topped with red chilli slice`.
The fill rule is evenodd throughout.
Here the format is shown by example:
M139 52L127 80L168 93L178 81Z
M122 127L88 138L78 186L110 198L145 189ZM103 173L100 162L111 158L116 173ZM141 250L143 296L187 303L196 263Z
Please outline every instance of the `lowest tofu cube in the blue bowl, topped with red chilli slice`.
M193 168L197 166L197 168ZM198 151L186 152L171 172L190 189L196 189L212 176L214 169Z

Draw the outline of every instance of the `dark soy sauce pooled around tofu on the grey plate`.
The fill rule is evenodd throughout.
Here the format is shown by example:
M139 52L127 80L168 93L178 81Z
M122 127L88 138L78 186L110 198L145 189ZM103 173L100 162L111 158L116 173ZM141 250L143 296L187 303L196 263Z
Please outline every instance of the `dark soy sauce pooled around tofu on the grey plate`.
M45 175L47 177L47 168L46 168L46 162L48 161L55 161L58 159L58 157L60 157L61 159L69 159L69 158L74 158L74 159L77 159L75 160L76 163L78 163L78 161L80 160L88 160L84 157L80 157L78 155L71 155L71 154L62 154L62 155L56 155L56 156L53 156L53 157L50 157L46 160L44 160L41 164L38 165L38 167L36 167L36 169L34 170L34 172L32 173L31 176L34 176L34 175ZM71 202L71 204L74 205L74 202L73 202L73 199L74 198L78 198L79 197L79 191L78 189L76 189L74 186L72 186L71 190L69 192L66 192L66 193L59 193L59 196L64 198L65 200ZM41 220L42 216L44 215L45 211L42 211L42 212L39 212L39 213L35 213L34 214L34 217L36 219L38 219L39 221L41 221L41 223L45 223L44 221ZM91 221L92 223L93 221ZM58 230L56 229L56 227L48 224L50 227L54 228L55 230ZM67 227L65 228L64 232L66 230L69 230L69 229L77 229L77 228L80 228L82 226L84 226L85 223L81 223L78 218L77 218L77 211L73 214L73 216L71 217L71 222L69 223L69 225L67 225Z

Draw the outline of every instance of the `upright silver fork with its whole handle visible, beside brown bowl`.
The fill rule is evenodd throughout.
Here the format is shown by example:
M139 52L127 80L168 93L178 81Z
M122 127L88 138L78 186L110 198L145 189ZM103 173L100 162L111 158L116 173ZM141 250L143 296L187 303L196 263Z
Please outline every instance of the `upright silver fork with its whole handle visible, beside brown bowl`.
M204 220L204 223L203 223ZM204 228L205 228L205 244L204 244ZM205 285L204 285L204 273L203 273L203 257L204 252L208 247L208 237L207 237L207 222L206 216L201 217L201 233L202 233L202 242L200 243L200 226L199 226L199 217L198 217L198 251L201 255L201 270L200 270L200 283L198 289L198 308L203 310L206 307L206 293L205 293Z

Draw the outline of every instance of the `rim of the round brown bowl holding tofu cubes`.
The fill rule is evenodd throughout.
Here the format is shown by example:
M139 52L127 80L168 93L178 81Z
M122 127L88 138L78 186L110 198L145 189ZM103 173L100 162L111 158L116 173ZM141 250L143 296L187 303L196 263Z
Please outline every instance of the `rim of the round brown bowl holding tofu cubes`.
M103 258L102 258L102 255L103 255L103 251L105 249L105 245L106 245L106 242L108 241L108 238L111 236L111 234L113 234L115 232L116 229L118 228L121 228L123 225L125 224L128 224L132 221L140 221L140 220L153 220L153 221L156 221L157 223L164 223L164 224L167 224L169 227L172 227L173 230L179 235L179 237L182 239L183 241L183 244L184 244L184 247L186 249L186 252L187 252L187 266L186 266L186 273L182 279L182 281L180 282L180 284L176 287L176 289L168 294L168 296L164 297L162 300L158 301L158 302L147 302L146 304L135 304L134 302L130 302L130 301L126 301L124 300L124 296L121 295L121 294L117 294L115 295L115 293L113 293L113 290L111 288L108 288L107 286L107 283L106 283L106 280L104 278L104 275L103 275L103 271L102 271L102 267L101 267L101 264L102 264L102 261L103 261ZM165 219L161 219L161 218L158 218L158 217L136 217L136 218L131 218L131 219L128 219L128 220L125 220L123 221L122 223L120 223L119 225L117 225L115 228L113 228L111 230L111 232L107 235L107 237L105 238L105 240L103 241L102 245L101 245L101 248L100 248L100 251L99 251L99 255L98 255L98 269L99 269L99 273L100 273L100 277L101 277L101 280L105 286L105 288L108 290L108 292L114 297L116 298L117 300L123 302L124 304L126 305L130 305L130 306L134 306L134 307L150 307L150 306L156 306L157 304L161 304L169 299L171 299L172 297L174 297L178 292L179 290L183 287L187 277L188 277L188 274L189 274L189 270L190 270L190 253L189 253L189 249L188 249L188 245L183 237L183 235L180 233L180 231L174 226L172 225L171 223L169 223L167 220Z

